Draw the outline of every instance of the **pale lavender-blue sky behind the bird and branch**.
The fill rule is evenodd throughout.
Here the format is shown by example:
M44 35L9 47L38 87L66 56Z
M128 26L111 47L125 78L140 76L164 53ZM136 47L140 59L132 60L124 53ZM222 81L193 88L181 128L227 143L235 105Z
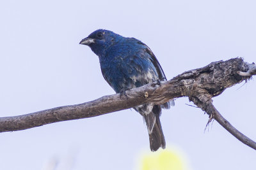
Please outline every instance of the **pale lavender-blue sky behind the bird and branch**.
M256 62L255 1L1 1L0 114L10 117L114 94L98 57L79 41L96 29L138 38L155 53L168 79L217 60ZM254 78L255 79L255 78ZM256 141L256 82L214 97L232 125ZM218 122L175 101L161 117L168 148L188 169L255 169L256 152ZM150 152L134 110L0 134L0 169L138 169ZM68 157L74 157L69 159ZM62 165L62 167L61 167ZM68 169L69 170L69 169Z

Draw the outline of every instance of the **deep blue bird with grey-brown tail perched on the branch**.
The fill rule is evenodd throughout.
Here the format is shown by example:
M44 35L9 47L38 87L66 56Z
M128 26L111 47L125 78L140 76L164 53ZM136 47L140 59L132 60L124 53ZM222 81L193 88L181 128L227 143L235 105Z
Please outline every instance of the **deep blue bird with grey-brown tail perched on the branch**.
M147 45L135 38L125 38L115 32L99 29L82 39L98 55L104 79L116 93L141 87L154 81L166 81L163 69ZM169 109L173 100L162 105L142 104L134 107L145 120L148 129L150 149L165 148L161 127L161 108Z

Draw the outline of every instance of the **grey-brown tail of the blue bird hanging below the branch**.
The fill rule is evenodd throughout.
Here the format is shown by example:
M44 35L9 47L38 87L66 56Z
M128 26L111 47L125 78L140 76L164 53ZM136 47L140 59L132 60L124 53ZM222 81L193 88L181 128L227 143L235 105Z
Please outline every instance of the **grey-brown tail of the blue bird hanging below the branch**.
M156 107L159 109L159 106ZM154 108L147 115L143 115L148 127L150 150L152 152L158 150L160 147L165 148L165 139L159 116L159 112L158 114L154 113Z

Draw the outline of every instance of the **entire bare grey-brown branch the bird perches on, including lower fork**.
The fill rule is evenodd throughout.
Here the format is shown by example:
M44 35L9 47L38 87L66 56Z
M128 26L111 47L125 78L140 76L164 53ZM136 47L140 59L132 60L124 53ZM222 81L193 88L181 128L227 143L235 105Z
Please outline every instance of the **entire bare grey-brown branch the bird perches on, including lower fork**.
M113 111L133 108L143 103L163 104L173 98L189 97L202 108L210 118L216 119L228 132L244 144L256 149L256 144L237 131L223 118L212 104L212 97L220 95L228 87L248 80L256 74L255 64L248 64L241 58L212 62L208 66L186 71L172 80L150 83L136 89L127 90L127 97L119 94L103 96L88 103L61 106L37 111L27 115L0 118L0 132L20 131L54 122L96 117Z

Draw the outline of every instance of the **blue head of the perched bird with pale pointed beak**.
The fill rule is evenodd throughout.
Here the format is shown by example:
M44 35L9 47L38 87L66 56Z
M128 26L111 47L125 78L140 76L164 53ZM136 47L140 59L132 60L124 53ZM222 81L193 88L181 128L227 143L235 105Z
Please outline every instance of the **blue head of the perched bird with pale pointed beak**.
M96 55L102 56L106 49L119 41L120 38L123 37L112 31L98 29L92 32L88 37L82 39L80 44L90 46Z

